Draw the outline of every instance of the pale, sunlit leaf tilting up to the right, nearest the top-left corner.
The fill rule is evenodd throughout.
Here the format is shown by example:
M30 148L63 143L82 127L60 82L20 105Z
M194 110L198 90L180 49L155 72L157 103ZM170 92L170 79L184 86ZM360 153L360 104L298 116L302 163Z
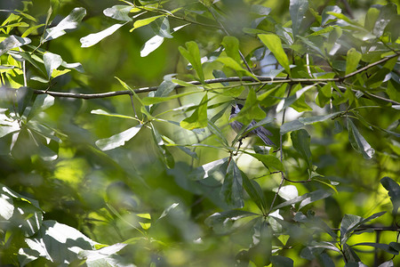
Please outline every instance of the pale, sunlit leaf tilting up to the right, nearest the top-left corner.
M57 24L57 26L46 29L41 43L43 44L44 42L65 35L66 29L77 28L78 23L84 19L85 15L86 10L83 7L74 8L64 20L61 20L60 23Z

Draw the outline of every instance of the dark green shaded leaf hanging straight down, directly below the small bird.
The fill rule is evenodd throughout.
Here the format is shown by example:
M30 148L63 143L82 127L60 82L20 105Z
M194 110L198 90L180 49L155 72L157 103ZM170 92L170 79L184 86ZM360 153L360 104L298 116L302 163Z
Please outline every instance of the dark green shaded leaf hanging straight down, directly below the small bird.
M240 208L244 206L243 198L243 178L235 160L231 160L228 165L220 196L228 206Z

